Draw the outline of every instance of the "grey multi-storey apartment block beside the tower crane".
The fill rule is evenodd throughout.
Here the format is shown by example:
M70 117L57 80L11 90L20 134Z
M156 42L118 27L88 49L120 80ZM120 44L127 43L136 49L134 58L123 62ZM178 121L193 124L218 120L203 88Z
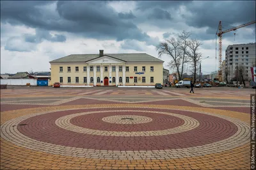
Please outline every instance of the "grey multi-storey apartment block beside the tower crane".
M229 82L236 77L238 67L242 68L246 81L252 79L250 69L252 66L255 66L255 45L256 43L228 45L226 49L225 72L227 72Z

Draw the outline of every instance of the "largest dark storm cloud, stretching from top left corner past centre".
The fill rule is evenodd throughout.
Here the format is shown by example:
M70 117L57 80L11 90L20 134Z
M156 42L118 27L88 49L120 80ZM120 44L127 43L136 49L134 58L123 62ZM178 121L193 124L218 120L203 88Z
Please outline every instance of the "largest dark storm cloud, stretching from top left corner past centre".
M150 36L138 29L136 24L121 20L107 1L58 1L58 15L52 13L54 16L43 8L38 9L37 5L40 3L31 2L23 4L23 1L1 1L2 22L40 27L49 31L67 31L98 40L150 40ZM33 37L29 36L27 40L33 41Z

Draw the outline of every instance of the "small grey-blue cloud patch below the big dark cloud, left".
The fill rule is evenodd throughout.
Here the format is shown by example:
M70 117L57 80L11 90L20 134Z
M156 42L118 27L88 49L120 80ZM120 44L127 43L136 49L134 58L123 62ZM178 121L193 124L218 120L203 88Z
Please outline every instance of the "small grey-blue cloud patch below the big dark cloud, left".
M51 35L49 31L36 29L35 35L24 35L26 42L31 43L41 43L43 40L48 40L50 42L65 42L66 36L63 35Z

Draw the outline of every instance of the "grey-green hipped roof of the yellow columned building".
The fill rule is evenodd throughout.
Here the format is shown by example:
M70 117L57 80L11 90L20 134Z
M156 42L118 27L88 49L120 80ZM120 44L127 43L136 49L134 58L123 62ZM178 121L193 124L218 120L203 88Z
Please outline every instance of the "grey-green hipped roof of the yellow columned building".
M163 60L150 56L146 53L104 54L104 56L105 55L127 62L164 62ZM86 62L95 58L99 58L99 54L71 54L63 58L54 59L50 61L50 63Z

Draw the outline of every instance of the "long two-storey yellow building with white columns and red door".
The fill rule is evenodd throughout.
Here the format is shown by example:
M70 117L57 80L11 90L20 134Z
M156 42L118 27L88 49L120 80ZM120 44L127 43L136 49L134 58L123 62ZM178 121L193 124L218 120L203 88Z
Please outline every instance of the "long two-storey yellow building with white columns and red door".
M145 53L72 54L49 62L51 84L153 86L163 82L163 63Z

